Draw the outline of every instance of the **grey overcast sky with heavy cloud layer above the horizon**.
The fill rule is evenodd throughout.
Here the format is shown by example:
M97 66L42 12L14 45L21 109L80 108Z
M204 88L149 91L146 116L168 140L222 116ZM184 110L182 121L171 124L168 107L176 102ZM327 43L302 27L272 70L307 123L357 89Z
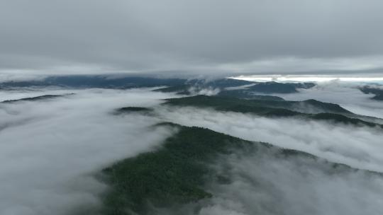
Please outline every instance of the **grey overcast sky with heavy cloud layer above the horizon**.
M0 0L0 73L383 74L382 0Z

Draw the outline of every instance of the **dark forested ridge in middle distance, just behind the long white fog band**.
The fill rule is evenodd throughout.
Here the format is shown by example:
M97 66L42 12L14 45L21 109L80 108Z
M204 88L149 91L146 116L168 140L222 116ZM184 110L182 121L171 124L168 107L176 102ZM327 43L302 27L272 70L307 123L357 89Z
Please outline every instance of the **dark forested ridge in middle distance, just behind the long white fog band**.
M330 120L333 122L366 125L383 128L382 124L369 122L363 116L341 108L340 105L322 103L318 100L276 101L248 100L207 95L167 99L165 105L214 108L222 111L252 113L265 117L300 117L311 120Z

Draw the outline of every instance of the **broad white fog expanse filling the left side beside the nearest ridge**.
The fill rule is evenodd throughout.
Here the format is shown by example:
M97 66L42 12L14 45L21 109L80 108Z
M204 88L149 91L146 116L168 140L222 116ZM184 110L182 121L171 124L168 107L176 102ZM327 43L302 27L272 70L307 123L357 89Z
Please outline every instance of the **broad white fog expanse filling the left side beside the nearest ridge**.
M55 93L65 98L0 104L0 214L71 214L96 210L105 190L101 168L160 144L169 129L142 115L111 115L150 107L172 95L150 89L1 92L2 99Z

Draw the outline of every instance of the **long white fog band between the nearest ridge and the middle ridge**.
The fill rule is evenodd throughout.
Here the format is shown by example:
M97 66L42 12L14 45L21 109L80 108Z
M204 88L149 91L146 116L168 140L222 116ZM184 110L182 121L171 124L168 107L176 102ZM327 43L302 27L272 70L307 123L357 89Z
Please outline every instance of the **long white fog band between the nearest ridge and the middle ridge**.
M266 118L211 109L159 107L164 120L199 126L250 141L306 151L335 163L383 172L383 132L292 118Z

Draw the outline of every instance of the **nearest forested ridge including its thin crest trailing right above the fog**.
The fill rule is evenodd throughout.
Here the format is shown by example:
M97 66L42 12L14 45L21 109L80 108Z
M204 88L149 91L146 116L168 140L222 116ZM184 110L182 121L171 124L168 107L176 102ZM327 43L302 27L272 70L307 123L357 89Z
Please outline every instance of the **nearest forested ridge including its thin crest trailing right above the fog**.
M304 158L309 163L321 163L325 167L323 171L330 175L356 170L348 165L323 161L309 153L245 141L201 127L173 123L155 126L177 127L178 132L166 139L160 148L118 161L102 170L101 180L111 189L103 197L101 214L156 214L157 209L177 210L183 205L210 199L214 193L206 190L206 185L232 183L230 176L221 175L212 165L221 157L237 153L260 157L266 154L281 161Z

